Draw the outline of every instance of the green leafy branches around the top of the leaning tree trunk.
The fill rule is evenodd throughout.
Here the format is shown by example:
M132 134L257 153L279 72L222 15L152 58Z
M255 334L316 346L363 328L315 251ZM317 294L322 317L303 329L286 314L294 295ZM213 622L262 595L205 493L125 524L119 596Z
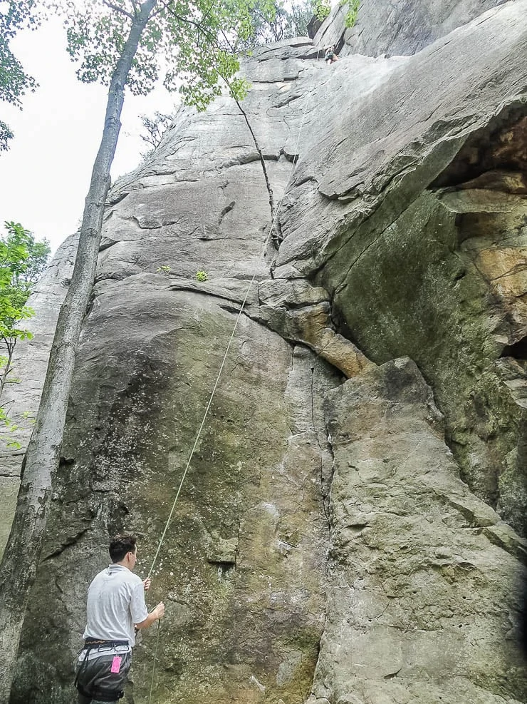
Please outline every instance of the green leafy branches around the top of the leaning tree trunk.
M273 0L159 0L142 32L127 86L134 94L152 90L167 66L164 84L179 89L187 105L204 110L221 94L220 78L230 80L236 96L244 84L234 78L239 70L236 49L254 32L251 10L258 2L264 16L275 12ZM81 81L105 85L140 11L137 0L63 0L66 9L68 52L80 62Z

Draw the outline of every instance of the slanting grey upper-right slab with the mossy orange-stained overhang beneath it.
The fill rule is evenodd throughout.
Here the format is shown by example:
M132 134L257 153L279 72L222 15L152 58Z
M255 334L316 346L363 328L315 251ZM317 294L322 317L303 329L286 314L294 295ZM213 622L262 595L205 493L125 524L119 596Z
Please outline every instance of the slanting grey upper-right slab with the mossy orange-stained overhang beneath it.
M277 261L330 292L374 362L417 362L464 479L521 531L525 11L504 4L409 58L331 67L318 103L340 106L298 164Z

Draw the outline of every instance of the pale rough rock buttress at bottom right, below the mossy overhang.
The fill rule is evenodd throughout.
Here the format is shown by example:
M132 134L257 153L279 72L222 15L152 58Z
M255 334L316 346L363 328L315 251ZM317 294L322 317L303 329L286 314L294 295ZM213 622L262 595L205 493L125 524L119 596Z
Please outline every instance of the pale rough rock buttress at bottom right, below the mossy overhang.
M331 568L309 704L524 701L510 616L525 544L505 551L513 531L460 481L417 367L387 362L326 404Z

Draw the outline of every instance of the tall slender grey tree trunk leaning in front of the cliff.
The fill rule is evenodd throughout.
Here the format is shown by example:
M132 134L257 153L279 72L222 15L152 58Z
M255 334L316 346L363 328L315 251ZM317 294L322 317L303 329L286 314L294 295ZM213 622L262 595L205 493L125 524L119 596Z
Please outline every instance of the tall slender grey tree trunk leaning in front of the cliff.
M110 166L117 147L125 83L142 31L158 0L145 0L108 91L103 138L85 201L75 270L58 317L35 428L22 465L11 534L0 567L0 704L9 702L29 592L41 555L53 477L58 468L80 327L95 277Z

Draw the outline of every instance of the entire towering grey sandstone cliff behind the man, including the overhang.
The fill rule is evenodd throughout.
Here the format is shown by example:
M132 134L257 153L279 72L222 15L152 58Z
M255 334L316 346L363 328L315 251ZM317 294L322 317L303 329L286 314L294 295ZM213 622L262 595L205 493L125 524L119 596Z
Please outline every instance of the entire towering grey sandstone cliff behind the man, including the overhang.
M109 534L147 573L236 320L125 701L527 701L527 0L376 6L110 193L13 703L71 701Z

